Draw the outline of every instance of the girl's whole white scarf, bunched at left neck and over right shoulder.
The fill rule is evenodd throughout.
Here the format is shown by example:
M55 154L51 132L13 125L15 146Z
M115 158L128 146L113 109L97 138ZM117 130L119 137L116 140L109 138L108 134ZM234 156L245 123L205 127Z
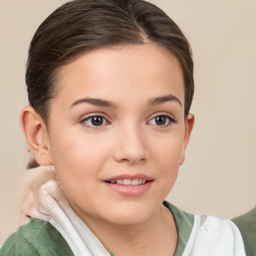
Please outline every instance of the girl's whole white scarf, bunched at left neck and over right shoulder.
M48 220L61 233L75 256L110 255L73 211L58 181L49 179L39 187L35 185L24 204L26 214ZM232 221L194 215L182 256L245 256L245 252L241 234Z

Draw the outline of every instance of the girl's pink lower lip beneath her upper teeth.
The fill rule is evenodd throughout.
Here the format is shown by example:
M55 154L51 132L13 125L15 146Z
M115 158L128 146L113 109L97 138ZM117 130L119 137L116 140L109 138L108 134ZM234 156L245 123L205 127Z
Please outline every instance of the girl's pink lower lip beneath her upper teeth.
M152 184L152 180L147 181L144 184L139 185L123 185L117 183L108 183L104 182L104 184L110 188L111 190L125 196L139 196L147 192Z

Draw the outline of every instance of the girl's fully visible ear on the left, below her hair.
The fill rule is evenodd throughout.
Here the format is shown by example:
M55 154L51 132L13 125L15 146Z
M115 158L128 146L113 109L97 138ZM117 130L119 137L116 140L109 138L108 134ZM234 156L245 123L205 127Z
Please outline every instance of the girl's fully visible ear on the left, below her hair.
M20 114L20 124L26 142L36 161L43 166L51 165L50 139L41 116L33 107L26 105Z

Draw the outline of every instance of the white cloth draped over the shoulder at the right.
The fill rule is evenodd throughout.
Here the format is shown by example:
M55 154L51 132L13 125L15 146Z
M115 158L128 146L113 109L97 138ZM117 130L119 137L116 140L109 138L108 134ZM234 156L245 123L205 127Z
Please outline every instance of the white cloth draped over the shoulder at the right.
M229 219L194 215L182 256L245 256L242 237Z

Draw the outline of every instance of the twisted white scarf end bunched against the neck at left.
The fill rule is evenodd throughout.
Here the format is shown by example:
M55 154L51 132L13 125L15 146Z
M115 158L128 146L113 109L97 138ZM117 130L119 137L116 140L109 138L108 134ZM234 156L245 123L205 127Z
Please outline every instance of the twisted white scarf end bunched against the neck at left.
M73 211L58 181L47 180L36 192L30 191L26 198L26 208L23 208L26 214L48 220L65 238L75 256L110 256L99 239Z

